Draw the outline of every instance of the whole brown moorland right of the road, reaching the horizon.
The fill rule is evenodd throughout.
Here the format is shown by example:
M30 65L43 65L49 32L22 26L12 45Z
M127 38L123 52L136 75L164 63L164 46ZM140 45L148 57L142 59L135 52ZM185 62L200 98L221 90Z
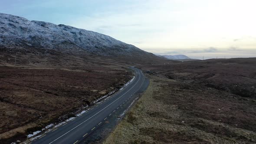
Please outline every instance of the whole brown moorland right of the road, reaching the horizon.
M104 143L255 144L255 62L144 67L150 69L148 89Z

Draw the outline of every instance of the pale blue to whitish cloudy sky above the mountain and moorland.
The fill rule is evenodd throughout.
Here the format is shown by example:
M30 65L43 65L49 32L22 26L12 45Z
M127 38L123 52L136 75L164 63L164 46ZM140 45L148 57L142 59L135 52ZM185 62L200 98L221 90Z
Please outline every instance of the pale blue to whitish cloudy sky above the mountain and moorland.
M92 30L156 54L256 57L256 0L1 0L0 13Z

